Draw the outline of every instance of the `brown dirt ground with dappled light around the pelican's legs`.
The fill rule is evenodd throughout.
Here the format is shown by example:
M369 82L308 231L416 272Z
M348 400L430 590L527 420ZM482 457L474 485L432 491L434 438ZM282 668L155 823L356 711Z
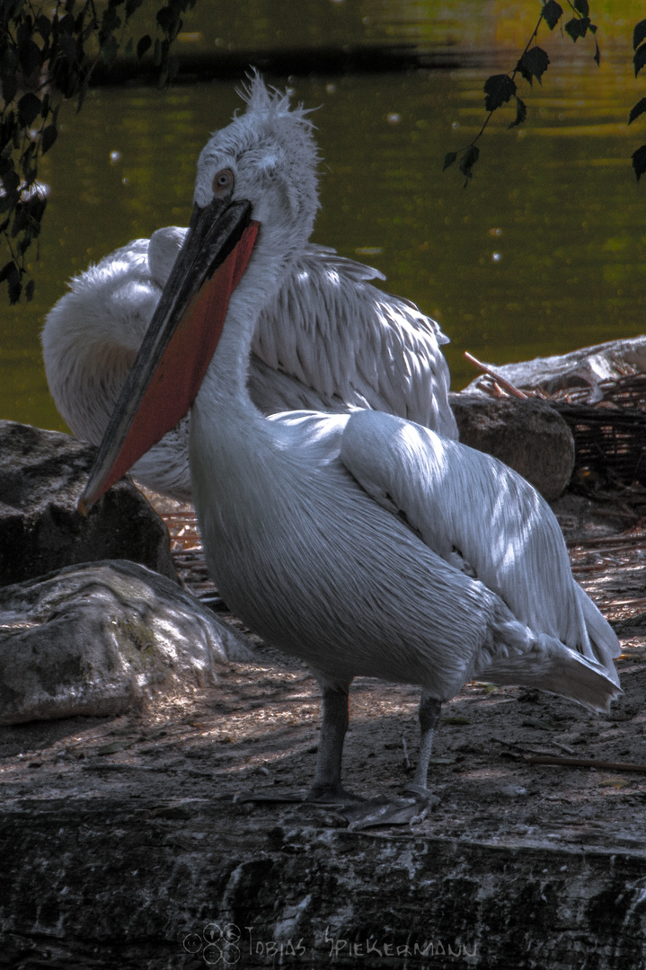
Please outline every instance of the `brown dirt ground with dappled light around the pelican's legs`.
M6 804L110 794L145 797L153 815L181 818L187 799L231 802L241 792L303 791L311 781L320 711L307 666L262 644L226 611L208 579L190 509L153 501L169 525L186 586L253 641L257 662L229 663L216 688L160 696L137 714L3 727ZM643 847L646 529L640 501L626 491L594 499L568 493L554 506L575 577L622 640L624 696L609 715L592 716L537 691L468 684L443 709L430 781L439 804L416 831L504 844ZM355 681L346 788L404 793L417 756L418 697L414 688ZM325 806L276 801L260 808L240 801L237 811L257 812L268 824L347 824Z

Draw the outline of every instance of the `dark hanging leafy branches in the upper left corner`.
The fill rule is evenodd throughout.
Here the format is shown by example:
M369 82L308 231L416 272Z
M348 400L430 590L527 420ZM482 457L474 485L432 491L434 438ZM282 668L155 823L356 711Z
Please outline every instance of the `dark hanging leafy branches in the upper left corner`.
M0 0L0 234L10 257L0 269L10 303L30 300L34 280L26 252L38 240L47 199L39 188L38 163L58 135L62 101L81 110L92 71L113 64L119 51L132 52L130 18L143 0L54 0L50 7L31 0ZM136 44L141 59L152 50L164 86L177 73L171 44L181 29L181 14L195 0L166 0L158 10L157 37Z

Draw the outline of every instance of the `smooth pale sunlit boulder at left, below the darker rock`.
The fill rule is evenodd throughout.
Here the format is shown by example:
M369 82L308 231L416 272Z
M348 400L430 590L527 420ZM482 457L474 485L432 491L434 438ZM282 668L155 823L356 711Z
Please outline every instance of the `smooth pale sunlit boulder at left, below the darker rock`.
M0 724L122 713L250 657L198 599L123 560L0 589Z

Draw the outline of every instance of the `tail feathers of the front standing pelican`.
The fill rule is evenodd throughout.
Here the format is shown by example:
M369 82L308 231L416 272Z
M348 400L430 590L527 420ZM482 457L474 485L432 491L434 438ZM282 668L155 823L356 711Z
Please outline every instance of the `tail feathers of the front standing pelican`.
M608 668L544 633L536 637L528 653L497 658L478 673L479 679L494 684L537 687L568 697L591 711L608 711L610 701L623 693L616 676L612 660Z

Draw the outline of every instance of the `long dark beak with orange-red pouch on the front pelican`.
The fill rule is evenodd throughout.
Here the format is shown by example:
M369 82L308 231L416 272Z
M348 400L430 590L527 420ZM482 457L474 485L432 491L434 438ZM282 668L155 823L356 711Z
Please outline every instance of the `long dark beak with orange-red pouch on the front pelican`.
M99 446L79 501L82 514L193 404L258 223L248 202L213 200L195 207L188 229Z

